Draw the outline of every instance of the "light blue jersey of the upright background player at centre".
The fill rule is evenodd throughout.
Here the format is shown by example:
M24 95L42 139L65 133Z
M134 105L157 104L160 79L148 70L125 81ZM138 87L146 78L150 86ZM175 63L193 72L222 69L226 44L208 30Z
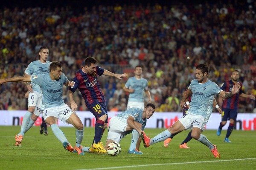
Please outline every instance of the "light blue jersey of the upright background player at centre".
M143 92L148 90L148 81L145 78L131 77L126 82L125 87L134 89L134 92L129 94L128 101L144 102Z

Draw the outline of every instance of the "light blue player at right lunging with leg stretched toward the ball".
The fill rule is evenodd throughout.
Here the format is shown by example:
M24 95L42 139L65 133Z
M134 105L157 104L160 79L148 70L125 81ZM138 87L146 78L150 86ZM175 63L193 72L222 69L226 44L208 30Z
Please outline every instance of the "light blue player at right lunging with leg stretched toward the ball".
M207 65L199 64L196 66L195 73L197 79L191 81L186 94L183 96L183 99L180 102L180 107L183 108L186 99L192 95L188 113L176 121L172 127L169 127L167 130L158 134L152 139L148 138L144 132L141 133L144 147L149 147L152 144L164 141L172 134L180 133L183 130L192 129L192 138L206 145L209 150L211 150L215 158L220 158L217 147L212 144L206 136L201 134L201 132L212 113L212 102L214 95L218 94L223 98L231 98L233 95L239 92L240 84L236 83L232 87L231 92L224 92L218 87L217 84L207 78L208 72L209 69Z

